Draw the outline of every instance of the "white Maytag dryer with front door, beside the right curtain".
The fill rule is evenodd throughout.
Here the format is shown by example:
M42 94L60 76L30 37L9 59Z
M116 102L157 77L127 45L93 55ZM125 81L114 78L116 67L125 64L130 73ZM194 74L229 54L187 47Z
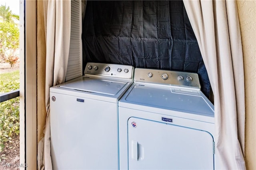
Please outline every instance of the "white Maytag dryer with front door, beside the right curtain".
M214 169L214 106L198 74L135 68L119 101L120 169Z

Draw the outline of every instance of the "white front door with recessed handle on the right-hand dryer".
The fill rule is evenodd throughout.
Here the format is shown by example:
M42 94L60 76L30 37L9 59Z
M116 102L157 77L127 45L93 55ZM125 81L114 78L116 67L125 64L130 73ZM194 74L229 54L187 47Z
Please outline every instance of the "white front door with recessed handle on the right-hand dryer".
M129 169L214 169L213 137L206 131L131 117Z

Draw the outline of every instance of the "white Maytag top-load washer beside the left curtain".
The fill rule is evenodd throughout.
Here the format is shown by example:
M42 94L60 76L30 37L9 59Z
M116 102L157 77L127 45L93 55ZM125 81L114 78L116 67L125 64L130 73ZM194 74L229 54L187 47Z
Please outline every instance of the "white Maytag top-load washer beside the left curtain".
M50 88L53 169L116 170L118 100L133 66L87 63L84 76Z

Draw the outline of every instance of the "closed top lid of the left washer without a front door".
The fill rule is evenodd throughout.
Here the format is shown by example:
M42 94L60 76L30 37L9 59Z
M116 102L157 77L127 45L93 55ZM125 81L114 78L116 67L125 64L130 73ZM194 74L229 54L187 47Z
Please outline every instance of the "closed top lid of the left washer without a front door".
M78 81L63 84L60 87L114 96L118 94L118 92L120 92L120 90L122 90L127 83L128 81L83 77Z

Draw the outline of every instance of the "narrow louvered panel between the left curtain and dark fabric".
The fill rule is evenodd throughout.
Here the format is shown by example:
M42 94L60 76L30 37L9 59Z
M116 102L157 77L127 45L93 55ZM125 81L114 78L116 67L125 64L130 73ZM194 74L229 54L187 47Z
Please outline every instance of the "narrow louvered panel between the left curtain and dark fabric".
M82 6L81 0L71 1L70 48L66 81L82 76Z

